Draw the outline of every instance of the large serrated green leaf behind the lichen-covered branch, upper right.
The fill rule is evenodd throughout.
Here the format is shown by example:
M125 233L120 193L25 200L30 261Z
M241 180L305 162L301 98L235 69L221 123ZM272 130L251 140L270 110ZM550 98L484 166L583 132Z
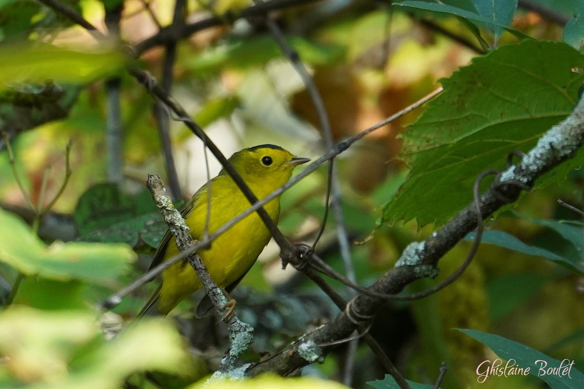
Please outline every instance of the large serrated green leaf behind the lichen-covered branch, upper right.
M527 152L571 113L584 80L573 68L584 69L584 58L569 45L526 40L474 58L442 79L444 92L403 134L411 172L384 220L441 225L456 214L471 201L481 171L504 168L509 152ZM562 180L581 163L579 155L536 185Z

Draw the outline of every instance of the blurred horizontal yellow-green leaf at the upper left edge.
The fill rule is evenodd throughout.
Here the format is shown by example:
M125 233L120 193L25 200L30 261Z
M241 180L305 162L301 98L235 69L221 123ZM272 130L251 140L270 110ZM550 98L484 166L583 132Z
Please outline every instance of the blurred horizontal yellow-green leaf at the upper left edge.
M0 85L5 83L86 83L113 75L124 65L120 51L81 52L48 44L0 47Z

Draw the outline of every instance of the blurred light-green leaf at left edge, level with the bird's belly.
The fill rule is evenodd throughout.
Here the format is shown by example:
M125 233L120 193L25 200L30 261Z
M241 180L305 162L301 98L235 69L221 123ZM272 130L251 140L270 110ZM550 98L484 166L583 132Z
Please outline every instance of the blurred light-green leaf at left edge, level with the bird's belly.
M0 209L0 261L25 275L107 283L127 272L135 253L125 244L43 243L22 219Z

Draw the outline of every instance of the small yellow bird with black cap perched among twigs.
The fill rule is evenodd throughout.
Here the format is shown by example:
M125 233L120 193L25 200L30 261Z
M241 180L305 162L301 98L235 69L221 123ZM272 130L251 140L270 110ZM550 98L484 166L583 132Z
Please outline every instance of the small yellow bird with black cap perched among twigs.
M229 159L258 199L265 198L285 184L290 179L294 167L308 160L295 157L274 145L243 149ZM203 185L180 211L193 239L197 240L204 234L208 186L208 183ZM211 180L210 187L211 212L208 233L213 233L218 227L249 208L250 203L224 169ZM274 198L263 208L274 222L277 222L280 215L280 197ZM252 267L270 237L258 213L253 212L215 239L209 249L200 250L199 255L217 286L231 292ZM172 233L167 231L154 253L150 268L178 253L176 241ZM201 288L203 284L188 262L186 260L176 262L162 273L161 285L138 316L166 315L181 300ZM197 317L206 314L211 307L208 297L204 297L197 307Z

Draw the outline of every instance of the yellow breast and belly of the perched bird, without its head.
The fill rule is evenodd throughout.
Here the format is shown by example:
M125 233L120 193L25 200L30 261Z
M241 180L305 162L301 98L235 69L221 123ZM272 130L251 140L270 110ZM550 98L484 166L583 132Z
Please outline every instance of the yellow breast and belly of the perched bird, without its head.
M252 191L259 199L266 197L272 188L254 187ZM185 221L190 227L193 239L201 239L207 218L207 186L195 195L192 210L187 212ZM223 175L211 180L211 213L208 233L211 234L223 226L234 215L239 215L250 206L239 188L230 177ZM263 207L272 220L277 221L280 213L280 198L274 198ZM253 212L221 234L211 244L211 248L199 251L203 263L211 278L220 288L234 283L253 265L258 255L270 240L258 213ZM172 238L166 248L164 260L179 253L175 239ZM162 274L162 288L158 309L168 312L180 300L203 287L199 277L186 261L179 261Z

